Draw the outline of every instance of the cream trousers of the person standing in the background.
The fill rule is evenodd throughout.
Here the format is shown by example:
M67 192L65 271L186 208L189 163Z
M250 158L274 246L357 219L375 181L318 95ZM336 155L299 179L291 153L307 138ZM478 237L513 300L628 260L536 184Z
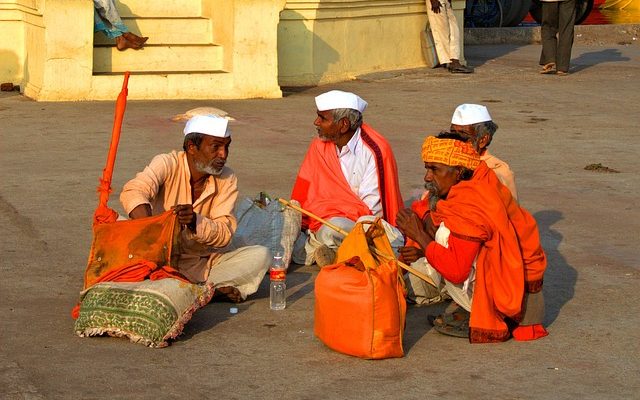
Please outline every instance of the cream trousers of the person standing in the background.
M433 33L433 41L440 64L448 64L451 60L460 60L460 29L458 21L448 0L439 0L440 12L431 10L431 1L426 0L427 17Z

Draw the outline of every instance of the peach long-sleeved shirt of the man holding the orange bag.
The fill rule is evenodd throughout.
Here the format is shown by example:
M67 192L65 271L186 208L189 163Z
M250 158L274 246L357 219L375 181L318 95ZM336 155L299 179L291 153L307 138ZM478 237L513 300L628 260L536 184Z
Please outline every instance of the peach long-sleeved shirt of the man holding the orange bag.
M233 207L238 198L238 180L224 167L219 176L209 176L204 191L191 198L191 173L184 151L155 156L135 178L124 185L120 202L127 215L141 204L149 204L153 215L178 204L193 204L196 231L182 230L178 270L192 282L203 282L218 248L231 241L237 221Z

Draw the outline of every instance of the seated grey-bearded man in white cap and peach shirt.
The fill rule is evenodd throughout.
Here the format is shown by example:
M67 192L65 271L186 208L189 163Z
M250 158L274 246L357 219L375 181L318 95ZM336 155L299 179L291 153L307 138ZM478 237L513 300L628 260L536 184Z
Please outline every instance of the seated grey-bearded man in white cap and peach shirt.
M237 226L238 181L225 166L231 144L228 120L197 115L184 134L184 151L155 156L124 185L120 201L132 219L173 209L182 226L177 270L191 282L214 283L216 293L230 301L243 301L257 291L271 254L263 246L219 251Z

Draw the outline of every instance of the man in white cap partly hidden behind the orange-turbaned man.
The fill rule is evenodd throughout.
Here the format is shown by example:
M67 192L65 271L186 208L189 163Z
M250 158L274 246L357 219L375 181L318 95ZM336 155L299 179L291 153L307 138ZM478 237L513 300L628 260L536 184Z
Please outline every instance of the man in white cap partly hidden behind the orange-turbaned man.
M459 133L470 140L480 159L495 172L500 182L509 188L514 199L518 200L516 180L509 165L489 153L489 145L498 125L491 120L487 107L480 104L461 104L451 117L451 132Z

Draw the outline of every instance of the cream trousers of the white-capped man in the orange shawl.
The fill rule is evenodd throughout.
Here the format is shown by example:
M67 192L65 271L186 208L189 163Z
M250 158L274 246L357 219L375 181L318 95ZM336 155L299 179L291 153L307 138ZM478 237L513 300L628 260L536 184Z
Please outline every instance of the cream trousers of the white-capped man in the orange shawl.
M373 215L364 215L358 218L357 222L374 221L375 219L376 217ZM382 222L382 226L384 227L384 231L387 234L389 242L391 242L394 254L397 256L398 248L404 245L404 237L396 227L385 220L380 221ZM352 220L343 217L329 218L328 222L347 232L350 232L356 224ZM306 234L300 235L296 241L294 248L294 262L302 262L302 259L304 259L305 265L311 265L315 262L313 253L318 247L326 245L331 249L337 249L342 244L343 239L344 236L341 233L338 233L332 228L324 225L315 233L308 231ZM301 249L301 247L303 247L303 249Z

